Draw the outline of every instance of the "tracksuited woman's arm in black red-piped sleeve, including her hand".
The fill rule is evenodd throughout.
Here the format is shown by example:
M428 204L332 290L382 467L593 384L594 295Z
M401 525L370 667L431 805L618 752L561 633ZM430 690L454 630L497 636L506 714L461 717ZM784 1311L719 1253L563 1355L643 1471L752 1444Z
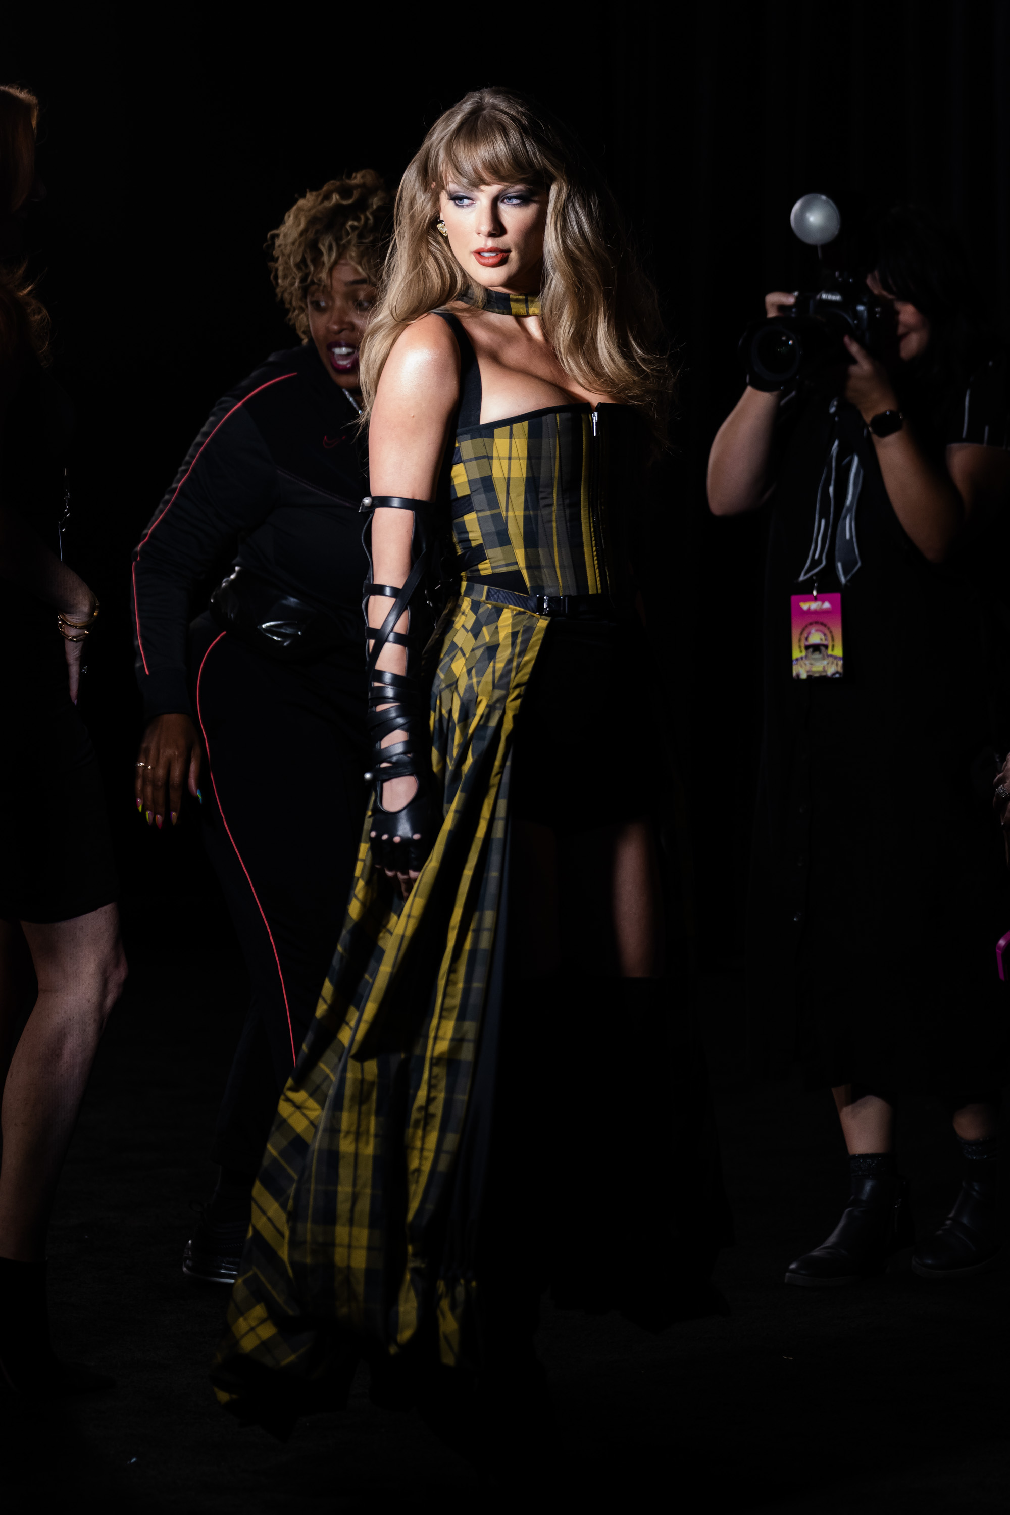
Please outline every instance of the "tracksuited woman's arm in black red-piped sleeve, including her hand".
M133 770L136 807L159 827L197 795L200 735L189 703L186 626L192 586L223 547L270 511L274 459L235 397L215 406L133 553L136 677L148 724Z

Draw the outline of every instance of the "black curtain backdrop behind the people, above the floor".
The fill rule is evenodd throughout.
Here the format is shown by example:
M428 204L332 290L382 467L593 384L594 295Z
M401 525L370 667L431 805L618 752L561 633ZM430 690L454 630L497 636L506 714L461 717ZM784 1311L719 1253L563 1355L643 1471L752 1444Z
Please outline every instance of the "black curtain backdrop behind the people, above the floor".
M438 8L424 24L400 9L263 9L256 26L236 8L80 15L21 35L5 20L0 79L42 102L48 200L32 261L79 409L67 554L103 603L82 708L129 929L194 942L223 929L191 818L159 836L133 811L129 553L215 398L292 341L265 235L345 170L371 164L394 185L441 109L500 83L571 120L598 155L680 345L653 623L668 627L703 962L728 967L760 727L763 523L707 517L704 462L740 389L736 342L766 289L816 276L789 230L792 203L813 189L843 215L857 194L934 205L963 230L1005 323L1010 6L707 0L495 18Z

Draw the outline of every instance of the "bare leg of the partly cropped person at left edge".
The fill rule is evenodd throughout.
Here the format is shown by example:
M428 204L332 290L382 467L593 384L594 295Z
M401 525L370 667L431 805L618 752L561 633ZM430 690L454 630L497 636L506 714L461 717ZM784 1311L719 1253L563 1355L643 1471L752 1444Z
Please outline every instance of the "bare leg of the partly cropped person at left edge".
M36 1262L59 1171L126 957L115 904L53 924L23 923L38 1000L3 1089L0 1257Z

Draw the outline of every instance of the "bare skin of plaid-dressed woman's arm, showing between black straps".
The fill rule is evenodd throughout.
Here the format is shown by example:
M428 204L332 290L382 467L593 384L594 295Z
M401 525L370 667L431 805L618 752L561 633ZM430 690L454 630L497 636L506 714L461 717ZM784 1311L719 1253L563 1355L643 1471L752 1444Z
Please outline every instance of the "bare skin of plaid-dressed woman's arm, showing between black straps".
M448 324L441 317L422 317L409 326L394 344L379 380L376 403L368 427L368 476L373 498L433 500L439 468L445 456L450 421L459 400L459 348ZM412 568L413 512L377 506L371 523L371 582L403 588ZM368 626L379 629L389 614L389 598L368 600ZM406 635L409 612L395 624ZM371 645L371 641L369 641ZM376 671L406 677L409 656L406 647L386 644L376 659ZM377 706L377 715L388 711ZM377 745L400 744L403 730L388 732ZM382 770L382 764L376 773ZM379 783L383 811L398 812L410 806L419 794L419 779L407 774ZM413 841L427 848L433 836L412 833ZM377 839L383 839L377 836ZM427 850L426 848L426 850ZM386 868L392 874L391 868ZM409 894L416 868L397 868L403 894Z

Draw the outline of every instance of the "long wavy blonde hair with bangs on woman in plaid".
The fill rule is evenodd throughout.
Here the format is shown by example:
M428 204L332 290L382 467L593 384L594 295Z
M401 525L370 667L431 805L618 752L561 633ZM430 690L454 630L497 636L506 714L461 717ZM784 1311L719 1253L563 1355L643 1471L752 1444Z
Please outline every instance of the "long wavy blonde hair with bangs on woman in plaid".
M566 374L637 406L662 436L674 374L656 291L621 212L569 132L506 89L474 89L445 111L403 176L383 283L360 350L365 414L389 350L410 321L451 300L485 303L483 288L471 285L435 227L450 179L548 191L544 333Z

